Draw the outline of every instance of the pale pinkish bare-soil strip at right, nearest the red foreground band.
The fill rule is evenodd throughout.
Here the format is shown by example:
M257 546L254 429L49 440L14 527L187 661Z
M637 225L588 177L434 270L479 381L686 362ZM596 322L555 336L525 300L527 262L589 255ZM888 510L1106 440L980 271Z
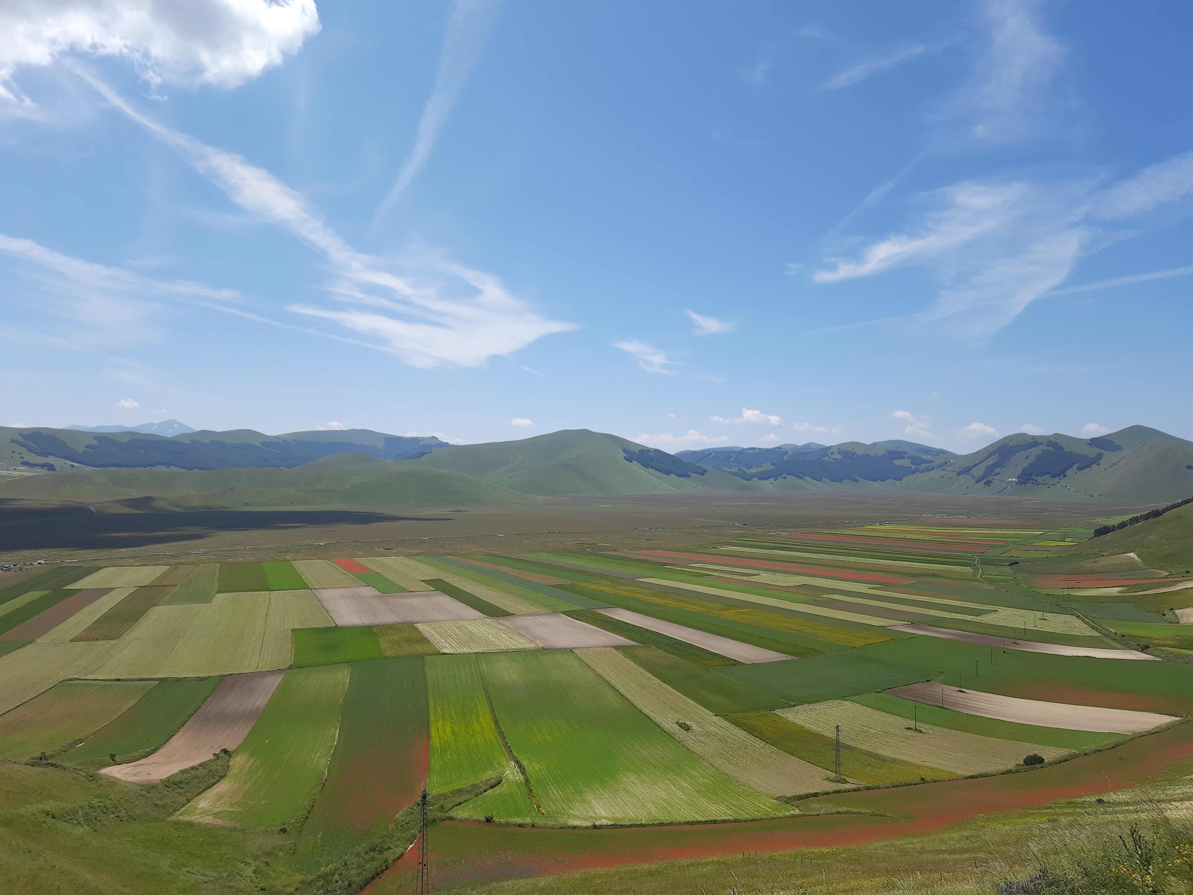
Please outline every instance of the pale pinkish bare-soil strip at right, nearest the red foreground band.
M1100 709L1093 705L1020 699L1014 696L962 690L933 681L908 684L886 692L928 705L944 704L946 709L964 711L968 715L981 715L985 718L1014 721L1019 724L1036 724L1037 727L1058 727L1062 730L1138 734L1179 720L1172 715L1160 715L1154 711Z

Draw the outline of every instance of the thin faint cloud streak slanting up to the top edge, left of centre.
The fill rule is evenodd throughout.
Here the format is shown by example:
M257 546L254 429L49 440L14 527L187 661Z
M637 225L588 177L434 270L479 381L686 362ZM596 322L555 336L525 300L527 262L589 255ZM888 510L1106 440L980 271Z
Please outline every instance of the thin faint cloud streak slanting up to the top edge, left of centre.
M488 43L496 6L493 0L456 0L452 4L447 33L444 37L444 47L439 56L439 73L435 75L435 86L431 91L427 105L422 110L419 132L414 138L414 148L402 165L389 195L378 206L375 222L379 221L394 206L394 203L431 158L435 137L451 115L452 106L456 105L460 91L464 90L472 67L481 58L484 44Z

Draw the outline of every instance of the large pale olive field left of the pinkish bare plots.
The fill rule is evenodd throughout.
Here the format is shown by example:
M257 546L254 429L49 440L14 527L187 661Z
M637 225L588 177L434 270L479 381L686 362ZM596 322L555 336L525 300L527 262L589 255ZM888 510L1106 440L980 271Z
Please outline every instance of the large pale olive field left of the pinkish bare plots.
M211 603L154 606L106 661L79 677L198 678L285 668L291 630L329 628L310 591L221 593Z

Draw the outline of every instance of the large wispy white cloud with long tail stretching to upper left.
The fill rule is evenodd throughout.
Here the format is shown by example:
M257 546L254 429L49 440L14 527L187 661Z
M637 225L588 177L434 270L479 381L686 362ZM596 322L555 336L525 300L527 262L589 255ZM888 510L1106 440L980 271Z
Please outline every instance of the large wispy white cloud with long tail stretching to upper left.
M327 257L338 277L328 292L350 307L295 304L289 310L373 337L365 344L416 368L478 366L495 354L509 356L544 335L576 328L533 313L493 274L433 252L410 252L401 258L357 252L323 222L305 196L270 172L140 115L103 81L86 72L79 74L234 203Z

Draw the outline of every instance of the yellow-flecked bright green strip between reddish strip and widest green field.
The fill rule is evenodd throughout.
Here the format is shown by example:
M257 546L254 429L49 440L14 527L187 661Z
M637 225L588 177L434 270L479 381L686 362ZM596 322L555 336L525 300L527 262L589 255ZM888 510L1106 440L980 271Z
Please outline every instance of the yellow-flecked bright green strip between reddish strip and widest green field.
M425 660L425 668L431 732L427 789L441 792L503 777L499 786L453 814L474 819L492 814L501 820L537 816L521 771L502 745L477 656L433 656Z

